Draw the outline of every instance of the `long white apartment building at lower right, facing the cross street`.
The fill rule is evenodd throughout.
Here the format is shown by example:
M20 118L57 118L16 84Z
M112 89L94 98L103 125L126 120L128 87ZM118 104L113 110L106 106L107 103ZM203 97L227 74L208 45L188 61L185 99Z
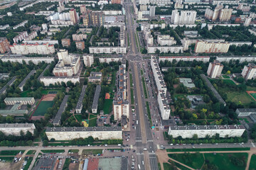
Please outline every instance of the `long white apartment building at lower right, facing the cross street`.
M220 137L241 137L245 132L243 125L184 125L184 126L170 126L168 135L172 137L181 136L183 139L192 138L197 135L198 138L205 138L206 135L213 137L218 133Z

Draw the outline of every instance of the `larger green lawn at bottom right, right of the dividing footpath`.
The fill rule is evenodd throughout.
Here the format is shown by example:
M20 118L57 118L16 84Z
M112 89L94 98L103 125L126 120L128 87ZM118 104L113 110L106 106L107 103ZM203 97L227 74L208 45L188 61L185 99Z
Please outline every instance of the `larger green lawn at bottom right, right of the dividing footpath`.
M226 169L232 169L232 170L244 170L247 162L247 153L235 153L235 154L204 154L206 160L210 164L215 164L215 166L218 166L219 170L226 170ZM230 157L233 157L235 160L238 160L239 162L243 162L243 166L237 166L231 162ZM244 157L245 159L242 159ZM238 162L235 161L235 162Z

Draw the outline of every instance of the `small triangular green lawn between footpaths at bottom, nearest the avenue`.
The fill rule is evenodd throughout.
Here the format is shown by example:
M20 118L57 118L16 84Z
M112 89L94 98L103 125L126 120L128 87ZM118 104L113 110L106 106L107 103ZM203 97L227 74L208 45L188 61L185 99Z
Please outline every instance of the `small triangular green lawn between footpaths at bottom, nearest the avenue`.
M201 166L203 166L203 154L168 154L169 157L172 159L175 159L178 162L181 162L183 164L186 164L187 166L191 166L193 169L201 169Z

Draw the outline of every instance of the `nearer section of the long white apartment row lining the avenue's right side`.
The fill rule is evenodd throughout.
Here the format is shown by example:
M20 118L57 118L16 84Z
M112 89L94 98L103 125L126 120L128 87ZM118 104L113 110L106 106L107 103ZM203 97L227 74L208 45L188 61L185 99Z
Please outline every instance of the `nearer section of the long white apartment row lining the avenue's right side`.
M157 101L159 103L161 117L163 118L163 120L168 120L170 117L171 108L170 108L169 102L166 98L165 91L159 91L159 94L157 95Z

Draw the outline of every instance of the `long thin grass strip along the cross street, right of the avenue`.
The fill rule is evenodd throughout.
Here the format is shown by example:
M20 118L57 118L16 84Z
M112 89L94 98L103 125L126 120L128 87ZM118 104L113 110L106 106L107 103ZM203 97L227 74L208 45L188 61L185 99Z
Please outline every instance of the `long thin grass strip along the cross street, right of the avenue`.
M248 151L250 147L233 148L198 148L198 149L166 149L167 152L197 152L197 151Z

